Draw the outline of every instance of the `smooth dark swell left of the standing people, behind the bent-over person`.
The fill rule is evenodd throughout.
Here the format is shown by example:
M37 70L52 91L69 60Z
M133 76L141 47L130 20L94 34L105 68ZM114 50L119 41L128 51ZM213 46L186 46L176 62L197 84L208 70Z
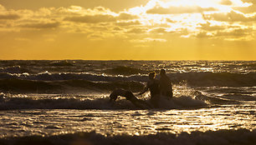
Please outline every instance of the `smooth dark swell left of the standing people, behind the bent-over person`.
M0 79L0 91L20 93L64 93L64 92L86 92L86 90L100 92L113 91L123 88L133 92L139 92L144 85L141 82L93 82L86 80L64 80L64 81L34 81L23 79Z

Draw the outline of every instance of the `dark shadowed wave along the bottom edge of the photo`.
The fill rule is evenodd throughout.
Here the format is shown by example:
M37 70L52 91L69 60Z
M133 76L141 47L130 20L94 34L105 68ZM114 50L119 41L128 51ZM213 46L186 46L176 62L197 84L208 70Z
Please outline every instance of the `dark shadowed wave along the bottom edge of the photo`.
M165 133L159 132L148 135L127 135L120 134L115 136L105 136L100 133L69 133L60 134L48 137L31 136L20 138L2 138L0 144L94 144L94 145L112 145L112 144L148 144L148 145L254 145L256 143L256 130L238 129L238 130L218 130L207 132L192 132L192 133Z

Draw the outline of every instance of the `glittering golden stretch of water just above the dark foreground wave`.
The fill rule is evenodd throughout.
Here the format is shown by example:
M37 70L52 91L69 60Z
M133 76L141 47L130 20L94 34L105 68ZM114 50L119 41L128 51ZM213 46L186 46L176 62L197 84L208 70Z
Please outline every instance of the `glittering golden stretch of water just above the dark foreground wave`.
M23 110L1 112L0 137L95 131L100 134L191 133L255 129L253 107L197 110Z

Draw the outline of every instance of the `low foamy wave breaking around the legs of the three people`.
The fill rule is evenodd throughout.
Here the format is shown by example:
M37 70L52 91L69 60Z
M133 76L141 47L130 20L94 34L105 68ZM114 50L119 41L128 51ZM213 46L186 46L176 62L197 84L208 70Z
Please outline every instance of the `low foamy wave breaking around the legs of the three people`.
M109 95L109 94L108 94ZM150 103L149 100L144 100ZM110 98L102 97L72 97L72 96L53 96L53 97L12 97L2 93L0 95L0 110L15 109L140 109L134 106L125 98L119 98L115 103L110 103ZM192 109L209 107L208 103L193 97L173 97L167 100L161 97L159 109ZM145 109L151 109L145 107Z

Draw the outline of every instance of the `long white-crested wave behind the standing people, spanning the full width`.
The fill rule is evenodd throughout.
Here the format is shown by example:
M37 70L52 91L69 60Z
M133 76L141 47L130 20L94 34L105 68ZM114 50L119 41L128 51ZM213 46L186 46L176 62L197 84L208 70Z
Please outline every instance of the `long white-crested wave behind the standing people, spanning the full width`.
M190 86L234 86L234 87L253 87L256 86L256 72L248 73L229 73L229 72L185 72L168 73L173 83L186 81ZM159 76L157 76L159 77ZM60 80L87 80L95 82L115 82L115 81L135 81L147 82L146 75L99 75L93 73L50 73L43 72L38 74L11 74L0 72L0 79L16 78L23 80L38 81L60 81Z

